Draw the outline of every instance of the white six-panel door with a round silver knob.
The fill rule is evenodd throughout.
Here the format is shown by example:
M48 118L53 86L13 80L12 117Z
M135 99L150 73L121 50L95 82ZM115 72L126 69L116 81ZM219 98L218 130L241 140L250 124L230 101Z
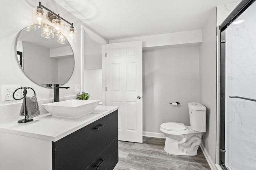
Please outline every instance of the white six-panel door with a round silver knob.
M118 140L142 143L142 42L106 45L106 106L118 106Z

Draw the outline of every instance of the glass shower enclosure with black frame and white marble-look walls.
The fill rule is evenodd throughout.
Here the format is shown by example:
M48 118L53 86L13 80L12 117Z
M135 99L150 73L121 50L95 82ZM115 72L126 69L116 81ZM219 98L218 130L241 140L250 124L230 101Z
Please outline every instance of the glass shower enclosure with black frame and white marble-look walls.
M256 2L242 0L220 25L220 165L256 170Z

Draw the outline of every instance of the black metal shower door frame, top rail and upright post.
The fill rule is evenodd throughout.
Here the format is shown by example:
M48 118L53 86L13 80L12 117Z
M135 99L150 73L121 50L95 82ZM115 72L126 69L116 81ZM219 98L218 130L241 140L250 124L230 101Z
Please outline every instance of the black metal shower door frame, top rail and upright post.
M225 109L226 109L226 28L238 18L256 0L242 0L230 15L220 24L220 166L228 170L225 165Z

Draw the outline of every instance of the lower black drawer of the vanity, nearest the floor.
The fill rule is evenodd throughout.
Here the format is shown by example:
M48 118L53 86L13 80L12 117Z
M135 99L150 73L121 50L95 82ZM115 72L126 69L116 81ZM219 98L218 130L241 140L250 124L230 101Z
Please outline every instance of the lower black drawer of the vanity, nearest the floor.
M86 168L86 170L112 170L118 162L118 138Z

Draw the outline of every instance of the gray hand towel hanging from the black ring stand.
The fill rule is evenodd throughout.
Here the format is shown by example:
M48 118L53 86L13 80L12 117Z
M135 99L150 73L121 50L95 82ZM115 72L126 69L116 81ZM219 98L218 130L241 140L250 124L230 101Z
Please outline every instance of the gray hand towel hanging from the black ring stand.
M38 103L37 103L37 98L36 96L33 96L32 98L30 97L25 97L23 99L23 103L21 105L21 108L20 108L20 115L25 115L24 114L24 104L26 102L26 110L27 110L27 113L28 113L28 117L29 118L33 118L33 117L36 117L38 115L40 115L40 110L39 110L39 106L38 106Z

